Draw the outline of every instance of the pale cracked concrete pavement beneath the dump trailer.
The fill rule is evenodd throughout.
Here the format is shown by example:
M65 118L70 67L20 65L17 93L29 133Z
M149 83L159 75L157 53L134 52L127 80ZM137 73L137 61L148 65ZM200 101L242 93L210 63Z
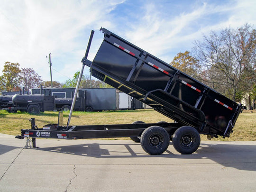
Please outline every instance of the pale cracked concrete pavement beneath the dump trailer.
M202 141L191 155L170 143L148 155L131 140L37 139L0 134L0 192L255 192L256 141Z

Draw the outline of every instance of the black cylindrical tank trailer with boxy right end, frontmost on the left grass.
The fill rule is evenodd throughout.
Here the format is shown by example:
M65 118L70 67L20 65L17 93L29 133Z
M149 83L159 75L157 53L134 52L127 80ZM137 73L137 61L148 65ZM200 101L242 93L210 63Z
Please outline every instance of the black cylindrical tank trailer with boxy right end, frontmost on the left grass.
M53 96L35 94L15 94L12 97L13 106L6 108L8 112L27 111L37 114L40 111L55 110L55 99Z

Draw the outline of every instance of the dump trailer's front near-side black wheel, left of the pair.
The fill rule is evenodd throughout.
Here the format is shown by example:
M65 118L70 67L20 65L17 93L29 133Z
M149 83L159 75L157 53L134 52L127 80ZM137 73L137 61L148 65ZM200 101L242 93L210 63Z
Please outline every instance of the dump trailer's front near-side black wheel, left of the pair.
M143 131L140 144L146 153L160 155L168 148L170 136L164 128L151 126Z

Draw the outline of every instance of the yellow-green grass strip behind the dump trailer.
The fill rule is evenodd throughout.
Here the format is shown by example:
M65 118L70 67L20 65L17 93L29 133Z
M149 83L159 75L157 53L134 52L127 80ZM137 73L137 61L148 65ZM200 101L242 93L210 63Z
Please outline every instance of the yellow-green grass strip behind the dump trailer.
M69 112L64 112L64 124L68 120ZM58 121L58 112L46 111L38 115L30 115L26 112L15 114L0 110L0 133L19 135L20 129L31 128L30 118L36 118L37 127L46 124L54 124ZM172 119L156 112L155 110L124 110L124 111L102 111L81 112L74 111L70 125L100 125L100 124L128 124L134 121L155 123L158 121L173 122ZM213 138L213 140L229 141L255 141L256 140L256 110L243 112L239 115L233 134L229 138ZM201 136L206 140L206 136Z

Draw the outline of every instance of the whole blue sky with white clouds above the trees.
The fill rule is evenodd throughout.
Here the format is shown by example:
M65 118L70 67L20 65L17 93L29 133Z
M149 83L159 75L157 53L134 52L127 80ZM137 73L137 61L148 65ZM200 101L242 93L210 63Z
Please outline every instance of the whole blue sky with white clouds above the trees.
M255 0L1 0L0 75L9 61L50 81L51 53L53 81L64 83L80 71L91 30L93 60L101 27L170 63L211 30L255 28L255 10Z

